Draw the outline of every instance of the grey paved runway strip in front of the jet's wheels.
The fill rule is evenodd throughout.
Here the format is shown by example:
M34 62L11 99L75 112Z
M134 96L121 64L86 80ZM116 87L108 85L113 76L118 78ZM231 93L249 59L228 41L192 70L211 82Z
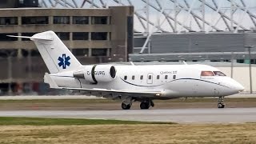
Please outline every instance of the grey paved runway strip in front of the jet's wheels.
M256 122L256 108L175 110L1 110L0 117L97 118L145 122Z

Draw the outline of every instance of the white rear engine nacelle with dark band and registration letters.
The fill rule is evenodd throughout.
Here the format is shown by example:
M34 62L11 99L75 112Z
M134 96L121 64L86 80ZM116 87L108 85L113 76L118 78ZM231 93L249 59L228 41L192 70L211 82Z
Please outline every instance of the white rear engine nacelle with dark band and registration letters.
M85 70L75 72L74 78L85 78L86 81L97 84L98 82L110 82L116 76L116 70L111 65L86 66Z

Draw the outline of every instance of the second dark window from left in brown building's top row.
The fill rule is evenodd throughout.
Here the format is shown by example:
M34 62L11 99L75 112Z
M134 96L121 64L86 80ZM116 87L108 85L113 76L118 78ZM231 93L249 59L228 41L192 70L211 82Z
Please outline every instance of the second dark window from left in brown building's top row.
M22 17L22 25L48 24L48 17Z

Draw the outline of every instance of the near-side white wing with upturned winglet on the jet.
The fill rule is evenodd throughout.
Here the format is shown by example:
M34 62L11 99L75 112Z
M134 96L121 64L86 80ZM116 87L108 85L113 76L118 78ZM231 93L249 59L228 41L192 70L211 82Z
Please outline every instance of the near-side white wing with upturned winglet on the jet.
M84 92L85 94L91 94L100 97L118 97L118 96L132 96L132 97L159 97L162 95L161 91L141 91L141 90L109 90L109 89L86 89L86 88L72 88L72 87L59 87L49 74L45 74L45 82L49 83L50 88L62 89L62 90L78 90Z

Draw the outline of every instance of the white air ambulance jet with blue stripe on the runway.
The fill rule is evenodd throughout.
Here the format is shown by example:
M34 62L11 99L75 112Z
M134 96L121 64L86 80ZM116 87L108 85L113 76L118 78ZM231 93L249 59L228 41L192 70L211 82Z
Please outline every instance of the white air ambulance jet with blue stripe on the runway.
M218 97L218 108L224 108L224 96L244 90L241 84L212 66L83 66L53 31L32 37L10 37L34 41L50 71L44 76L50 88L119 99L124 110L130 109L135 101L141 102L141 109L149 109L154 106L154 99L201 97Z

